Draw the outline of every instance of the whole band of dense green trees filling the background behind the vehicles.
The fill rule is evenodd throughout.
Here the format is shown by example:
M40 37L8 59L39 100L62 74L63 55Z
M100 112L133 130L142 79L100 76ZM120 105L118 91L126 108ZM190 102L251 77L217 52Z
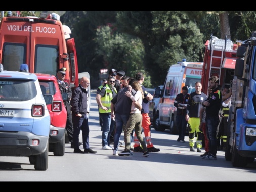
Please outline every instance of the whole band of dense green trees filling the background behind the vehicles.
M224 12L231 40L250 38L255 11L66 11L61 21L75 38L78 70L88 71L91 82L98 80L100 69L116 68L131 77L145 72L144 86L156 87L164 83L170 65L183 58L203 61L210 35L221 38L219 14ZM22 16L39 13L21 11Z

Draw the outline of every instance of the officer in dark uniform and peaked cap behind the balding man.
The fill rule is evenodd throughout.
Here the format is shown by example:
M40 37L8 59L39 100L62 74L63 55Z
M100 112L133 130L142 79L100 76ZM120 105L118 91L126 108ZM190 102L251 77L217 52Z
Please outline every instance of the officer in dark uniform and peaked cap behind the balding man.
M66 110L67 110L66 130L67 130L67 134L68 134L68 140L71 143L71 148L74 148L74 146L73 146L73 123L72 123L71 106L70 106L70 100L72 98L72 91L70 89L69 84L64 81L65 75L66 75L66 68L62 67L61 69L56 70L56 72L57 72L56 78L58 80L58 85L59 85L61 93L63 93L63 92L68 93L68 100L63 101L64 105L66 107Z

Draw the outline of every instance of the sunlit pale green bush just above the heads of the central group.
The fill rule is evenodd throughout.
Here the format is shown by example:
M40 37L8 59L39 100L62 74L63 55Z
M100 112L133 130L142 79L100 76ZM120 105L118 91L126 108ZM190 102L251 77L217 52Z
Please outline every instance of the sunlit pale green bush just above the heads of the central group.
M143 70L144 46L139 38L119 33L115 26L101 26L97 29L97 53L103 55L106 68L124 70L128 76Z

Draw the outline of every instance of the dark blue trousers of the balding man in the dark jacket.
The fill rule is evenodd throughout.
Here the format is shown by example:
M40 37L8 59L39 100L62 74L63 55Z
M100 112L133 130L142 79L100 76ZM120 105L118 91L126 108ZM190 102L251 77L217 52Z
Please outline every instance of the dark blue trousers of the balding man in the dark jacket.
M79 149L79 134L82 130L82 144L84 149L89 149L89 124L88 118L84 115L83 118L77 117L72 113L72 122L73 122L73 143L74 149Z

